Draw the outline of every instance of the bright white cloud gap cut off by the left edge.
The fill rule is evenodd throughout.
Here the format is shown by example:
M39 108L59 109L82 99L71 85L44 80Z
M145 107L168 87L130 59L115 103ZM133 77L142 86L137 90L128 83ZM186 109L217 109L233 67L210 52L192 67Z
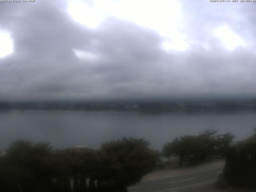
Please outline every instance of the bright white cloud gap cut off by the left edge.
M0 57L4 57L13 52L12 38L6 32L0 32Z

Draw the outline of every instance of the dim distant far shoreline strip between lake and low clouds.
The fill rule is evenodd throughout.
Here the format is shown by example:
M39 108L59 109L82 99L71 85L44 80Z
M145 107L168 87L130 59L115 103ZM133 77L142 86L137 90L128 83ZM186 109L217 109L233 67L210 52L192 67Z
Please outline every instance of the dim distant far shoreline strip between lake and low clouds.
M248 102L1 102L0 110L81 110L139 112L256 111L256 100Z

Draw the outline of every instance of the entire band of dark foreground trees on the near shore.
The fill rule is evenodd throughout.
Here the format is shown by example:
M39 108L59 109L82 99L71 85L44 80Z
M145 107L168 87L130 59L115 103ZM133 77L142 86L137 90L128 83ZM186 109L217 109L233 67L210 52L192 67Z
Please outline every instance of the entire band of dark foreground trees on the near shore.
M206 130L175 138L161 152L136 138L105 142L99 149L54 149L44 142L16 140L1 152L0 187L8 192L125 192L156 168L213 158L226 158L219 183L256 187L256 131L235 144L233 139L231 133Z

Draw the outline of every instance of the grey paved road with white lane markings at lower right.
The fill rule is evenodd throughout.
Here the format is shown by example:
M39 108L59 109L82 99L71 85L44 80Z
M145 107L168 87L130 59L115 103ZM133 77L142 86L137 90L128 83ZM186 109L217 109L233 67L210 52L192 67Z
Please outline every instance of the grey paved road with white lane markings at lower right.
M218 191L214 189L214 183L222 173L224 166L209 168L196 172L144 180L134 186L128 187L128 192L197 192L197 191Z

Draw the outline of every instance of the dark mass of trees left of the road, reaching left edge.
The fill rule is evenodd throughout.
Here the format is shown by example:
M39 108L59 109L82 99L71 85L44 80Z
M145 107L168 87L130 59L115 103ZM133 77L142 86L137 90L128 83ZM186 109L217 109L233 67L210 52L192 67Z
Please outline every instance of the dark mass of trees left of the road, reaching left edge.
M122 192L156 165L143 139L106 142L95 151L80 146L52 150L18 140L0 155L0 186L6 192ZM86 184L86 176L89 186ZM98 181L98 184L96 185Z

